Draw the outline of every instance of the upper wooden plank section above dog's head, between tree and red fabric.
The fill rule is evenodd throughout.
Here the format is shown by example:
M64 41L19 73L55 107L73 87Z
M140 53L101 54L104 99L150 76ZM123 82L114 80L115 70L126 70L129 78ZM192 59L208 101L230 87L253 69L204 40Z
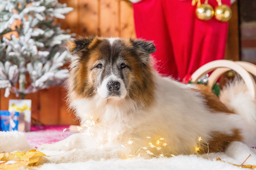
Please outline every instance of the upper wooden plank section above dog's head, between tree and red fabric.
M61 28L71 29L80 36L135 37L133 8L130 3L117 0L59 0L74 10Z

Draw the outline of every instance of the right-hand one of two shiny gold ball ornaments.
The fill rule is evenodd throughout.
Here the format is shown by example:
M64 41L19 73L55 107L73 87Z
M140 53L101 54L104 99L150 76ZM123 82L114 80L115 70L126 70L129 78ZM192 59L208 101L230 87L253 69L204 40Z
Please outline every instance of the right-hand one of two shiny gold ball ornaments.
M214 15L220 22L228 22L232 16L232 11L228 5L219 5L215 8Z

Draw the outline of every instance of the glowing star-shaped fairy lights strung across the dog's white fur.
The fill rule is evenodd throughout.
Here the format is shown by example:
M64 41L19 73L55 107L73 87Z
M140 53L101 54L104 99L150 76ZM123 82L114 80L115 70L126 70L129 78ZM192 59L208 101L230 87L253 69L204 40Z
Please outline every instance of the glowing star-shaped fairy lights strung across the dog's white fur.
M96 121L94 121L94 118L96 116L90 116L89 118L87 118L81 126L77 126L77 130L83 134L83 135L89 135L90 137L92 137L94 139L94 141L99 145L99 147L102 149L104 148L104 142L106 141L110 141L111 137L112 137L112 134L110 133L110 131L108 130L109 126L108 125L105 125L105 124L98 124L96 123ZM94 138L94 134L92 132L92 128L100 128L103 133L105 135L108 136L108 138L106 139L103 139L102 137L100 137L100 141L101 142L98 142L95 138ZM65 128L62 132L61 132L61 137L63 139L65 139L63 137L63 133L68 130L69 128ZM115 134L116 135L119 135L119 132L118 131L115 131ZM139 145L136 141L141 141L141 139L136 139L136 138L127 138L127 143L122 143L120 146L122 148L125 148L127 147L127 145L129 146L137 146L138 147L138 150L134 152L134 154L129 154L127 155L127 158L139 158L141 156L141 152L144 152L145 154L148 154L148 155L151 155L151 156L154 156L155 158L162 158L164 156L172 156L174 157L175 155L174 154L169 154L169 153L164 153L163 152L163 148L164 147L167 147L167 143L164 141L164 138L161 137L161 138L157 138L156 141L152 141L151 140L152 138L150 136L146 137L145 140L149 140L148 142L148 145L147 146L141 146ZM208 153L209 154L209 145L206 141L204 141L201 137L198 137L198 141L201 142L203 141L204 143L207 144L207 147L208 147ZM69 146L69 143L66 142L66 146ZM75 148L76 150L77 148ZM152 150L155 150L152 151ZM156 153L156 151L158 153ZM195 151L196 152L199 152L200 151L200 147L196 147L195 148ZM101 161L103 161L104 159L101 158Z

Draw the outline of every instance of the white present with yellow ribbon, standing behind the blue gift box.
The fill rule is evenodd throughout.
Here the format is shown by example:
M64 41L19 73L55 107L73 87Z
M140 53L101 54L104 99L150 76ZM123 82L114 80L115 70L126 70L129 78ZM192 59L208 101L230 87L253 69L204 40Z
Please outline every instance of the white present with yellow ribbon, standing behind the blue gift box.
M31 100L9 100L9 111L19 112L19 131L30 131Z

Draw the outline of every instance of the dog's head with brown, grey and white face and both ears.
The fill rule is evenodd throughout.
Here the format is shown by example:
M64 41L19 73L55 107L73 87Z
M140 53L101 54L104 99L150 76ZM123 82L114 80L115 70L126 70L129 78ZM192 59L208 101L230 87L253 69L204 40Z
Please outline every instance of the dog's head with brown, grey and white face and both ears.
M69 91L79 98L136 98L154 88L150 54L156 48L151 41L86 37L69 41L69 50L73 55Z

